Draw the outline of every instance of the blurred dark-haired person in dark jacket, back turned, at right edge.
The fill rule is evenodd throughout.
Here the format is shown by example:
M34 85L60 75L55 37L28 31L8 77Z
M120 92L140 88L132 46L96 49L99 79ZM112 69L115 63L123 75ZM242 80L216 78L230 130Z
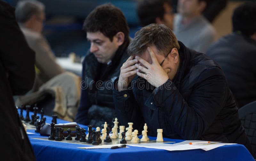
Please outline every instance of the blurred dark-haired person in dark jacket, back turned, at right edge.
M233 32L212 44L206 54L223 69L238 107L256 101L256 3L234 10Z

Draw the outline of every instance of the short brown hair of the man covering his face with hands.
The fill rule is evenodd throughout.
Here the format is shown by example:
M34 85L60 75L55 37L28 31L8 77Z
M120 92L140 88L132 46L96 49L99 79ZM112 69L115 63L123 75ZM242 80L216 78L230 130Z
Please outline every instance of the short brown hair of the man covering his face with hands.
M164 55L172 48L180 49L178 40L170 28L164 24L149 24L135 33L127 52L129 55L141 56L150 46L155 46Z

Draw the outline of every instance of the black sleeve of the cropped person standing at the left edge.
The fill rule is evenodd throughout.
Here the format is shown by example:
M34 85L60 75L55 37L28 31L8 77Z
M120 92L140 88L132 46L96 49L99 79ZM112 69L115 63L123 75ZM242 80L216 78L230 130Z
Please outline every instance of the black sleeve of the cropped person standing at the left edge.
M8 75L12 94L25 94L33 87L35 79L35 53L20 31L14 9L0 7L0 17L0 60Z

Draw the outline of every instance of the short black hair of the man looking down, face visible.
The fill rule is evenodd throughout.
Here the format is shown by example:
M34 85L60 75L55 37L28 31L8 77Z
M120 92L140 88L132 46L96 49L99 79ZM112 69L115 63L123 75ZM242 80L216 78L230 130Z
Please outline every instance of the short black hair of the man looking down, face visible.
M85 32L101 32L113 40L117 32L124 32L125 40L129 39L129 27L123 12L108 3L96 7L84 20Z

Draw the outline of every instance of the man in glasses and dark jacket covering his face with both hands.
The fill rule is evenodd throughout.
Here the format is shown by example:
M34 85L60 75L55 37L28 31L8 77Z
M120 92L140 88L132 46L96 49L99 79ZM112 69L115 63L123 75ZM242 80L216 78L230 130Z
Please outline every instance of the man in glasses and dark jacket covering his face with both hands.
M113 96L121 124L148 135L244 144L250 151L235 101L221 68L176 39L171 29L150 24L135 34ZM135 58L135 59L134 59Z

